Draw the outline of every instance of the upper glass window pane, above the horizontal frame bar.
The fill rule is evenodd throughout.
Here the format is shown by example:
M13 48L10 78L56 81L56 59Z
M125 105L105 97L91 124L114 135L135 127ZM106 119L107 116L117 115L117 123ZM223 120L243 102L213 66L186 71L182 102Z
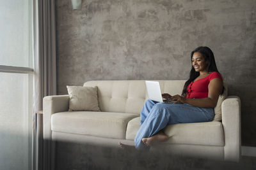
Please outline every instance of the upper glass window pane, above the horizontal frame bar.
M31 65L31 0L0 0L0 65Z

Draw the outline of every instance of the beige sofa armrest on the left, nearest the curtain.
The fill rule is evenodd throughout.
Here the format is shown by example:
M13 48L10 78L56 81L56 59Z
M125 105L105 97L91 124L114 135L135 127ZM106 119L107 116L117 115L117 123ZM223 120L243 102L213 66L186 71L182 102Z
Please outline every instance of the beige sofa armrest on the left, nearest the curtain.
M44 111L44 139L51 140L51 115L53 113L68 111L69 96L46 96L43 100Z

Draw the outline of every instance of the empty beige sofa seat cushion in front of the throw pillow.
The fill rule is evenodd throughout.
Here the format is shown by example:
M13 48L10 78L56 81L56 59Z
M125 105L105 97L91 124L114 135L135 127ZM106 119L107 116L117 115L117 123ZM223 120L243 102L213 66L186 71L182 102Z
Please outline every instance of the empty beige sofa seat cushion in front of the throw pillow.
M52 114L52 131L125 139L127 123L133 113L65 111Z

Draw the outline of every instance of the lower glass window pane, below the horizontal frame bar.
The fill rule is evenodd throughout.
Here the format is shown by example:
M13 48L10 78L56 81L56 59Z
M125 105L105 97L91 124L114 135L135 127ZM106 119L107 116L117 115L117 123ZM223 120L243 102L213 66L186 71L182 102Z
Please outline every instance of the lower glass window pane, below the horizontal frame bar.
M31 75L0 73L0 169L31 169Z

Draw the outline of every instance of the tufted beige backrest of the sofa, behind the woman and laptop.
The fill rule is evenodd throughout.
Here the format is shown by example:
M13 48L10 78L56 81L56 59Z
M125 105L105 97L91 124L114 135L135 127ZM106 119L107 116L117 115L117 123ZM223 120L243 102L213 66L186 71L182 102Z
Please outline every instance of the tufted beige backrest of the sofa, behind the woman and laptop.
M181 94L186 80L153 80L159 81L161 92L171 95ZM145 80L100 80L87 81L86 87L98 87L99 107L101 111L136 113L140 115L143 104L148 99ZM227 96L220 96L215 112L214 121L221 120L221 103Z

